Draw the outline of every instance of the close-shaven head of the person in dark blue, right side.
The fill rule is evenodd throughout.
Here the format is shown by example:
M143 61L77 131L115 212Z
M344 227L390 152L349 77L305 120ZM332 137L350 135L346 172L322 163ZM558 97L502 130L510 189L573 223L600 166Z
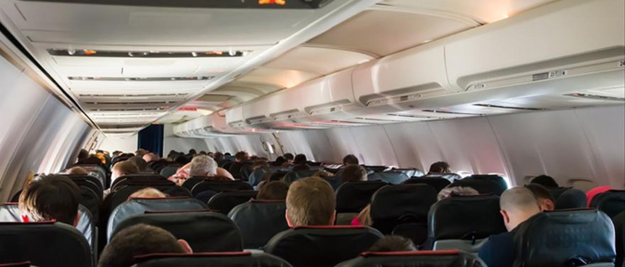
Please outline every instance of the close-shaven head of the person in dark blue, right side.
M534 194L527 187L512 187L499 198L499 208L508 231L541 212Z

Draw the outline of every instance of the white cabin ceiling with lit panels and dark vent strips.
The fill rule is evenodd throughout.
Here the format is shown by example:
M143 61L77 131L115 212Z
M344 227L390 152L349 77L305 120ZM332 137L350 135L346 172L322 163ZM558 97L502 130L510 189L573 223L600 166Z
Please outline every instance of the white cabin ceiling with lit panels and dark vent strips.
M314 10L259 10L2 0L0 21L63 89L78 100L96 124L110 128L148 125L155 120L183 122L208 115L552 1L383 0L374 4L376 0L334 0ZM44 16L42 11L46 11ZM313 32L317 33L311 35ZM46 49L246 51L246 54L242 57L71 57L51 56ZM156 82L68 79L197 76L212 79ZM204 94L209 95L202 97ZM179 109L182 102L186 105ZM389 122L401 119L384 114L369 117ZM413 120L440 117L444 115L432 118L424 115ZM121 128L104 132L117 134L123 131ZM133 132L136 128L126 131Z

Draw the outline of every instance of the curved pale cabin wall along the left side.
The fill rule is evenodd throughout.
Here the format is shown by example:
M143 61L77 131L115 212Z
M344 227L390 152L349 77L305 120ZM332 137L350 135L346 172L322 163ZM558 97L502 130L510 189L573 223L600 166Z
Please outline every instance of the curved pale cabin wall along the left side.
M23 69L0 57L0 201L29 173L56 173L73 161L91 127Z

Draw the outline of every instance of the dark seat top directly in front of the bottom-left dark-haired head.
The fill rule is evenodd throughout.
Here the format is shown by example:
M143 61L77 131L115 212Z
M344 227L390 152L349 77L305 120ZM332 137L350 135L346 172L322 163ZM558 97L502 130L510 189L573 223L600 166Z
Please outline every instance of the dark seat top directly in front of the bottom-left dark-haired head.
M164 211L133 215L119 223L112 238L130 226L145 223L163 228L189 242L193 251L241 251L242 238L234 222L213 211Z

